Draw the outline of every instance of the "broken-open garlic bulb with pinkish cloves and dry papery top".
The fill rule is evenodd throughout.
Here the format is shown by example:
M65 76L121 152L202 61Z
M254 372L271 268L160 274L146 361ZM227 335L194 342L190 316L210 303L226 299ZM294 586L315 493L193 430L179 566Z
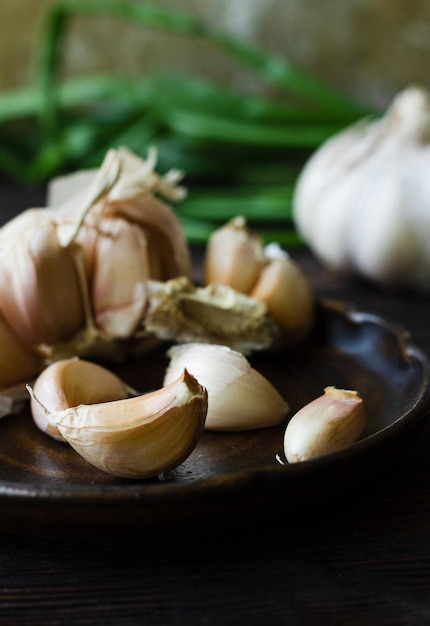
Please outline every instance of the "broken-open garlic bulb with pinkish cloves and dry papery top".
M153 151L144 160L110 150L95 172L52 183L55 207L24 211L0 229L2 357L21 367L20 378L14 367L0 372L0 388L59 358L118 358L145 345L148 280L191 271L181 224L158 197L183 197L181 174L159 176L155 164Z

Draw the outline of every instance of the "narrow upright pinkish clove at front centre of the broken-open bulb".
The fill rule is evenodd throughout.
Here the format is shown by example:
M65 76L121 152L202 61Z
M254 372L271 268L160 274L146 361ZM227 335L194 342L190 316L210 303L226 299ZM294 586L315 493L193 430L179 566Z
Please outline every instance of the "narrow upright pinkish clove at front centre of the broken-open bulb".
M140 325L148 278L143 231L122 219L102 220L94 246L91 301L97 326L110 337L129 337Z

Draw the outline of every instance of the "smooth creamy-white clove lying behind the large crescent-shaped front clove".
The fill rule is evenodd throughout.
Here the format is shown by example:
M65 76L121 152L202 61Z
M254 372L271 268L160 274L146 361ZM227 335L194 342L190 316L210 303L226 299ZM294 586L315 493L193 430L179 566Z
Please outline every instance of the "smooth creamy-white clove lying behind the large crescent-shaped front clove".
M186 368L208 392L206 430L240 431L280 424L288 404L243 354L202 343L174 346L164 384Z

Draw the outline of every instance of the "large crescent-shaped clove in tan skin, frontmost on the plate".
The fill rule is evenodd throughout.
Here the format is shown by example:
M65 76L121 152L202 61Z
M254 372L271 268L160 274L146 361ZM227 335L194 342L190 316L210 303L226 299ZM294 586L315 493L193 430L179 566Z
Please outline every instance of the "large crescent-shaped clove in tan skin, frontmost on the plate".
M37 402L31 388L29 392ZM143 396L46 410L48 420L84 459L124 478L151 478L180 465L200 439L206 412L207 392L187 371Z

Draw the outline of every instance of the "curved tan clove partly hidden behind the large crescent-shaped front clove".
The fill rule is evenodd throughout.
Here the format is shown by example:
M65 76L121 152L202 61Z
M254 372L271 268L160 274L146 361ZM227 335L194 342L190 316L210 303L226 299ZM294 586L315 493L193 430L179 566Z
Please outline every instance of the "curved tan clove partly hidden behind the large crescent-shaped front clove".
M78 404L95 404L123 400L130 395L128 387L108 369L83 359L62 359L49 365L33 386L31 413L37 426L54 439L64 441L49 413L64 411Z

